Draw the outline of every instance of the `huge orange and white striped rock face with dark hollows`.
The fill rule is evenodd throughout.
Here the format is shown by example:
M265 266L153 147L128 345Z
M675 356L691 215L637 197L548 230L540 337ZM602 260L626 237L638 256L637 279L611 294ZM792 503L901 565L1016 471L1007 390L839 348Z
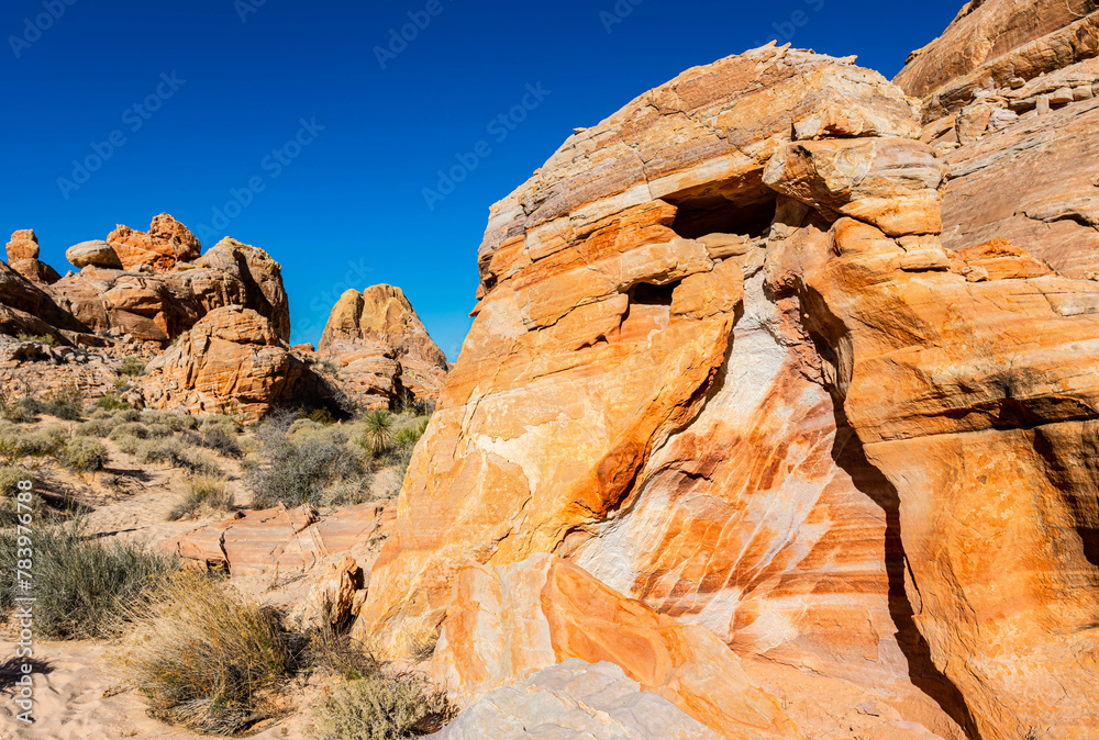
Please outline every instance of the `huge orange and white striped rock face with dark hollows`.
M918 728L880 737L1099 726L1099 285L944 249L919 119L850 60L756 49L493 206L356 634L399 653L469 561L554 553Z

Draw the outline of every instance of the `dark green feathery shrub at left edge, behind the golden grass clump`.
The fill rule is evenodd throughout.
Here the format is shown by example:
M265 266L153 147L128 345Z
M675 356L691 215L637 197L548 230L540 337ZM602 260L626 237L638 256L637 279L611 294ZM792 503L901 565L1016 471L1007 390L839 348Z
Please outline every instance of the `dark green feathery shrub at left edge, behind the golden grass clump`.
M121 634L130 614L145 608L157 585L177 570L174 556L143 545L86 539L78 524L34 531L34 627L55 640L104 639ZM14 605L19 536L0 531L0 607Z

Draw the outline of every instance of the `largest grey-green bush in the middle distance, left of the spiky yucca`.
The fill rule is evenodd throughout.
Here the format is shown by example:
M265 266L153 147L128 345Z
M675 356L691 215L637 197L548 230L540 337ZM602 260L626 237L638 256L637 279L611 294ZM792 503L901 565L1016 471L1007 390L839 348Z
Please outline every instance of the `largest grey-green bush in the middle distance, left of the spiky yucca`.
M326 505L325 491L333 486L343 486L344 498L348 486L357 486L365 501L366 460L338 427L281 414L256 428L255 442L245 464L244 483L256 508L278 503Z

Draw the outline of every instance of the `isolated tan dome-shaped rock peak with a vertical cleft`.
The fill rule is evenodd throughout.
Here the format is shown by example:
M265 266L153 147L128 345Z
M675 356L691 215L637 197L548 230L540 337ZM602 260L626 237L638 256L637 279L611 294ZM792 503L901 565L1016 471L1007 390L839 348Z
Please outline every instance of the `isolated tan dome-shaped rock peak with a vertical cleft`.
M348 290L332 307L318 354L332 362L345 391L364 407L389 406L408 393L434 403L446 379L446 355L400 288Z

